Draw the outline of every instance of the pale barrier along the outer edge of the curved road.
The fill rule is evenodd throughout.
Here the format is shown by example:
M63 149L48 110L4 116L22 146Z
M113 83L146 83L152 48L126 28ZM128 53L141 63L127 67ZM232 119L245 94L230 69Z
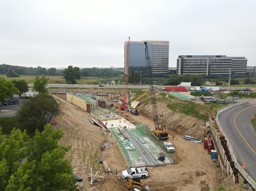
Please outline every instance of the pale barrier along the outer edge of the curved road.
M225 135L225 131L223 131L223 129L221 128L220 125L220 121L219 121L219 115L220 113L222 113L223 111L229 110L232 107L238 106L238 105L242 105L247 103L247 101L244 102L239 102L239 103L235 103L232 105L229 105L221 110L218 110L217 115L216 115L216 122L218 124L218 127L221 129L221 132ZM225 137L227 137L227 135L225 135ZM229 138L227 137L227 143L228 143L228 148L231 154L232 159L235 162L235 167L238 169L238 171L241 173L241 175L252 185L252 187L254 189L256 189L256 181L249 175L249 173L247 173L242 167L241 164L238 163L237 157L235 156L235 152L233 151L232 145L229 142Z

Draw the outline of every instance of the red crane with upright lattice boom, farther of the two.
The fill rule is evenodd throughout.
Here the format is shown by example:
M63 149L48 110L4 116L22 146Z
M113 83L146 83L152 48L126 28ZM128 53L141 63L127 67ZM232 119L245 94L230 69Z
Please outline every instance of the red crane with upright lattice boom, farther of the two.
M122 99L122 105L120 106L121 110L127 109L129 106L131 106L131 99L130 99L130 92L128 91L128 82L129 82L129 62L130 62L130 37L127 42L126 48L126 55L125 55L125 71L124 71L124 81L125 81L125 87L124 87L124 94ZM128 96L128 103L127 103L127 96Z

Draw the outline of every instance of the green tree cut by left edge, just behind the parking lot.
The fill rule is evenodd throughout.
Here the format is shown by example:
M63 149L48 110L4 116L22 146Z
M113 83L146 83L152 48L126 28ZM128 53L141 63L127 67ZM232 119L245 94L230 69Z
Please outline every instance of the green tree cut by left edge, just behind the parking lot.
M14 94L18 94L19 90L10 81L0 78L0 101L4 102L5 98L12 98Z

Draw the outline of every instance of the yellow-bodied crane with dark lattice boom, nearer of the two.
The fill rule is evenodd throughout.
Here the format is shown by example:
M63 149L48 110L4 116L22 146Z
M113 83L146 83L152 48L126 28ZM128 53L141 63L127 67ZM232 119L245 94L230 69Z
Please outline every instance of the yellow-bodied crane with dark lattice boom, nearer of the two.
M153 110L153 120L155 124L155 131L153 136L157 139L167 139L168 133L166 132L165 126L160 126L159 124L159 118L158 118L158 110L157 110L157 102L156 102L156 93L155 93L155 87L153 84L153 78L152 78L152 67L150 63L150 56L148 52L148 44L147 42L144 42L145 44L145 57L146 57L146 65L149 69L149 91L150 91L150 98L151 98L151 105ZM161 115L161 117L163 114Z

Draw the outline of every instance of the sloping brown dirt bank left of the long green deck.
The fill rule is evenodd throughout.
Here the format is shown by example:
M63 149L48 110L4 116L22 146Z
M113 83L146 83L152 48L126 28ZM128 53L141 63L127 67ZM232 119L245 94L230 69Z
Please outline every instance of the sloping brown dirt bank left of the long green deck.
M70 159L74 173L83 178L84 190L125 190L123 182L116 177L116 170L120 173L128 167L114 138L103 135L100 127L90 123L87 119L88 113L63 99L59 101L60 114L55 118L57 124L52 127L63 131L64 135L59 144L70 146L66 157ZM110 148L100 151L105 140L109 142ZM113 173L103 170L102 164L98 162L99 157L107 161ZM98 171L99 175L106 177L102 183L90 186L87 175L91 168L94 173Z

